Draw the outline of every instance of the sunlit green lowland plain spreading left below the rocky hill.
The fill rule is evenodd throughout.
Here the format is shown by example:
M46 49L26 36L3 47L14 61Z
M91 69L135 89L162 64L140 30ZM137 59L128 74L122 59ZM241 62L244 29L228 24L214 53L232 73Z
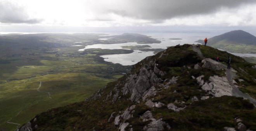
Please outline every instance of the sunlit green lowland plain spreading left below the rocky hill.
M96 42L109 44L99 35L0 35L0 130L14 130L43 111L84 101L123 76L130 66L105 62L99 54L133 50L78 52Z

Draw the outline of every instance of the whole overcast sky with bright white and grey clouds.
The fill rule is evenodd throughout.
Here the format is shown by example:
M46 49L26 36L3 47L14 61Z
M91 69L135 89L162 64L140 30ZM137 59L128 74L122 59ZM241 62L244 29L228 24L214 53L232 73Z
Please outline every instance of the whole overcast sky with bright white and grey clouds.
M188 26L256 27L256 0L0 0L0 32Z

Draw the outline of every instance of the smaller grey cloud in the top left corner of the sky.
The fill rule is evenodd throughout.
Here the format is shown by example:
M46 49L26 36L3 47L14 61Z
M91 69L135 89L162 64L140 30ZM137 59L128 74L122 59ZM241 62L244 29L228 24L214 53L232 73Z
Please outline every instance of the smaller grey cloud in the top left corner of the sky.
M27 23L35 24L42 20L31 19L25 8L16 3L0 1L0 22L1 23Z

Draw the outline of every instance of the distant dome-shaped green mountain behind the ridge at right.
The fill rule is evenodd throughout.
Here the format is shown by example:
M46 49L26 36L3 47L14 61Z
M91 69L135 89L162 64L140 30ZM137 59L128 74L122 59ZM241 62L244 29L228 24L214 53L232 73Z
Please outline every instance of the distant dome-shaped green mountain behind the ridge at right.
M197 40L204 44L204 40ZM256 53L256 37L243 30L234 30L208 39L207 45L230 52Z

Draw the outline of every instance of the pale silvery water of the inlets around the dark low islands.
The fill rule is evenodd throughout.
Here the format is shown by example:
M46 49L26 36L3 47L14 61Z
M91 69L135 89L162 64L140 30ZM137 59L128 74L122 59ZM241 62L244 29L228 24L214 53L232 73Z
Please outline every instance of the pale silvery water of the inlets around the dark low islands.
M143 33L139 33L143 34ZM83 49L79 49L79 51L83 51L85 49L92 49L92 48L101 48L101 49L122 49L121 46L135 46L135 45L149 45L149 48L152 49L166 49L170 46L175 45L183 45L183 44L199 44L195 42L199 39L204 39L205 37L211 38L215 35L219 35L219 32L187 32L187 33L148 33L143 34L150 36L154 39L161 40L160 44L154 43L154 44L138 44L136 42L128 42L128 43L120 43L120 44L94 44L94 45L87 45ZM111 35L117 35L117 34L109 34L104 36L109 36L109 38L102 38L100 40L108 40L111 37ZM180 38L182 40L170 40L171 38ZM137 62L140 62L140 60L144 59L147 56L154 55L153 52L142 52L140 50L134 50L131 54L112 54L112 55L101 55L100 57L103 57L105 61L112 62L112 63L119 63L124 66L127 65L133 65ZM237 56L245 56L245 57L256 57L256 54L240 54L240 53L231 53Z

